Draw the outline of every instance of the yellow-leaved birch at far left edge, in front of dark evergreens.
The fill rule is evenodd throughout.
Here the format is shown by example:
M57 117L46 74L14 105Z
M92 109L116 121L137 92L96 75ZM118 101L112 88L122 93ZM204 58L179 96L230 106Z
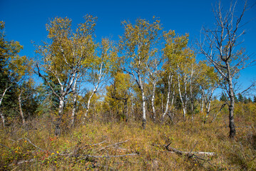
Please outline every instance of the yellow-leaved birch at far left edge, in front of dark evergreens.
M0 21L0 114L3 125L5 125L5 116L1 105L3 100L7 100L4 98L13 86L21 87L31 71L31 60L26 56L18 55L23 46L17 41L6 41L4 26L4 22ZM20 114L24 122L24 115Z

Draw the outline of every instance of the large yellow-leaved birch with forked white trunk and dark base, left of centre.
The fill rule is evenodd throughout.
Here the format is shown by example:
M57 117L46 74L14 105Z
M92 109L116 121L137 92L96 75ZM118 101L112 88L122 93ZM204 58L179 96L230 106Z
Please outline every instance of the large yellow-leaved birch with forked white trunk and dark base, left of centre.
M72 92L72 86L76 87L78 76L91 63L95 50L93 41L93 31L96 25L96 18L86 16L85 22L79 24L76 31L71 29L71 20L56 18L46 24L48 31L48 41L42 46L37 46L41 63L36 63L35 72L48 84L54 95L59 100L58 118L55 122L55 134L61 134L61 121L66 97ZM51 86L53 78L60 92L56 92Z

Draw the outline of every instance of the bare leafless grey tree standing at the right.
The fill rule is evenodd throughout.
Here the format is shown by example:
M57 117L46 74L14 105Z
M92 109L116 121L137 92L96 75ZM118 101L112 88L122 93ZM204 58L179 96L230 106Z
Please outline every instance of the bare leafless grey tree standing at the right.
M242 30L243 17L247 11L247 1L238 12L237 1L224 10L219 2L215 7L215 28L203 28L203 40L198 42L200 52L213 64L217 73L225 83L228 95L230 138L235 138L235 90L234 81L239 72L250 66L252 61L241 48L241 38L245 34Z

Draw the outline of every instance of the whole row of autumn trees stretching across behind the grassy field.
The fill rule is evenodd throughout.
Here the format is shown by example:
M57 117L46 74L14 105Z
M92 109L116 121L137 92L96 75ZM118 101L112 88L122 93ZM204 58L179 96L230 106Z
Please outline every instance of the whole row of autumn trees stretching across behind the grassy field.
M163 124L197 115L213 122L228 107L234 138L235 104L256 101L244 95L254 84L236 89L240 70L255 62L240 44L246 10L247 4L233 19L237 11L222 13L218 6L215 28L203 28L193 47L188 34L166 31L155 17L123 21L118 41L101 42L96 17L86 15L76 29L71 19L56 17L46 24L47 40L35 46L38 60L19 56L23 46L6 40L1 21L1 125L47 116L55 135L90 120L140 120L146 129L148 120Z

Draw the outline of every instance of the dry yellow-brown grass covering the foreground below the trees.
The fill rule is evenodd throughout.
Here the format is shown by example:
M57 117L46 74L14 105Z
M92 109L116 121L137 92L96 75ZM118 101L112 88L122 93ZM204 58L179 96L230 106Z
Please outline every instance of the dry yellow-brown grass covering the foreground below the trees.
M242 119L242 115L240 117ZM0 169L256 170L255 123L251 123L250 128L237 128L235 140L230 140L223 120L205 125L197 120L173 125L149 122L146 130L141 129L140 123L131 121L94 121L66 129L58 138L53 136L53 127L47 118L32 120L27 128L14 125L0 130ZM237 125L245 125L244 122ZM114 145L117 142L121 143ZM181 151L215 152L216 155L200 155L204 160L178 155L165 149L169 143Z

